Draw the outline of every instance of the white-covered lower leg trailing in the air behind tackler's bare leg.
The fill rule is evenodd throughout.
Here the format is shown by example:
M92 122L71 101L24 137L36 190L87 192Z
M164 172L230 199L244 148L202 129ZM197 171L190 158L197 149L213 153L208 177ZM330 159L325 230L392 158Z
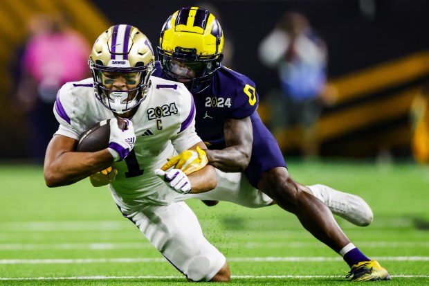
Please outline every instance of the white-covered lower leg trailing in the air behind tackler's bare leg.
M356 224L368 226L372 222L372 210L364 199L357 195L343 193L325 185L309 186L313 195L324 202L334 215Z

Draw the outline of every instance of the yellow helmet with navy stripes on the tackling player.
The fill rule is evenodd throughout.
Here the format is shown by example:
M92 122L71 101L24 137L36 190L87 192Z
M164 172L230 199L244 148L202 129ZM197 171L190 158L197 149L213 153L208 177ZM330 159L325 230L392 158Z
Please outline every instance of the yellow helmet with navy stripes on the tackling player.
M222 48L223 31L215 15L203 8L181 8L165 21L158 57L168 78L185 83L192 93L199 93L208 87L213 73L221 66ZM192 75L175 72L177 62Z

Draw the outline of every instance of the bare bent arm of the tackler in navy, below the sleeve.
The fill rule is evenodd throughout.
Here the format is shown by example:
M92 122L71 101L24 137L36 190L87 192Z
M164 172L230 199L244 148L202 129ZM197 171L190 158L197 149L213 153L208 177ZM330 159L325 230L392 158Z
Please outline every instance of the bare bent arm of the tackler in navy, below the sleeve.
M252 154L253 130L250 117L228 118L223 125L226 148L206 150L208 163L223 172L244 172Z

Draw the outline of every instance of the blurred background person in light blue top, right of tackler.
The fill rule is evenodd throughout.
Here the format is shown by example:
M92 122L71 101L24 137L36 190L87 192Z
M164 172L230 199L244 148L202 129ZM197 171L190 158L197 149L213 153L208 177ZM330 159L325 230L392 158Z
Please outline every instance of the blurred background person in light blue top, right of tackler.
M269 91L269 123L280 141L297 138L302 154L318 157L318 128L327 83L327 45L299 12L286 12L259 45L259 59L277 70L279 89ZM295 136L282 133L293 130Z

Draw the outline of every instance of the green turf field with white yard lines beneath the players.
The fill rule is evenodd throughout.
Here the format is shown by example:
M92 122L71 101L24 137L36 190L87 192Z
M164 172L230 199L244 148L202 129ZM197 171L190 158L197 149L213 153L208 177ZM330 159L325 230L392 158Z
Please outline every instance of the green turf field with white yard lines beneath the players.
M390 272L392 280L377 285L429 285L428 168L292 162L289 171L304 184L356 193L372 206L372 225L338 223ZM106 188L87 180L47 188L42 167L7 164L0 166L0 182L0 285L188 285L122 217ZM226 255L230 285L351 283L342 258L277 206L188 203Z

